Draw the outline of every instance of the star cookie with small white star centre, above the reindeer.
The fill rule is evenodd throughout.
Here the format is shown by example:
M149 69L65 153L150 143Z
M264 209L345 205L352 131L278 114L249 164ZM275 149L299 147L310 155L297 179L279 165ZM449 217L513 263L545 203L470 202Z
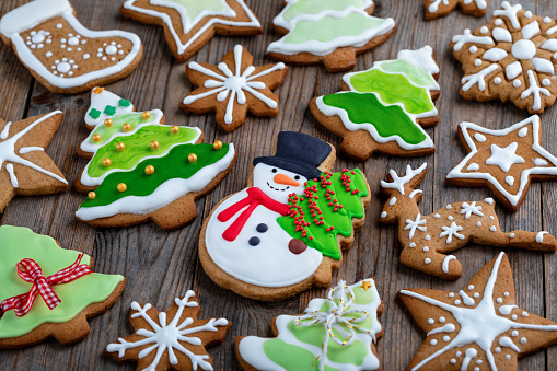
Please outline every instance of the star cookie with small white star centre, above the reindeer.
M459 135L468 155L446 175L452 185L489 187L517 211L531 181L557 179L557 159L539 144L539 117L532 116L501 130L461 123Z

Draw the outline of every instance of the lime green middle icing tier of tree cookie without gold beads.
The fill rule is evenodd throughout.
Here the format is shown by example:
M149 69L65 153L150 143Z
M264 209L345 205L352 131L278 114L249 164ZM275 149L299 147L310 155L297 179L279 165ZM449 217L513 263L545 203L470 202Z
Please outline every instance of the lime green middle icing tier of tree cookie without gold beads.
M429 96L429 90L408 82L403 74L390 74L372 69L350 78L357 92L375 92L385 104L402 103L406 112L419 115L436 108Z

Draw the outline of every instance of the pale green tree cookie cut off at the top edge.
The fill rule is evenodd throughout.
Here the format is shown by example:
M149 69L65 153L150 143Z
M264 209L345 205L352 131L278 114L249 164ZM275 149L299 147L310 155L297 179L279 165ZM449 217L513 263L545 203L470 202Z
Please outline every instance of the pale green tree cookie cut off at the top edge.
M396 31L391 18L371 16L372 0L286 0L272 21L285 36L271 43L269 57L293 65L324 63L330 72L356 65L356 55L383 44Z

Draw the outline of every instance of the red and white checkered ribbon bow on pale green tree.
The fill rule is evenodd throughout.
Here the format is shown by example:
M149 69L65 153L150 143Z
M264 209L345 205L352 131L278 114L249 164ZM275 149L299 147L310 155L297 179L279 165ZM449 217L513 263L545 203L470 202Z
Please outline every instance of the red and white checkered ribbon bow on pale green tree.
M83 253L78 256L78 259L72 265L48 277L43 276L43 269L40 269L37 262L33 259L26 258L18 263L15 265L18 275L20 275L21 279L24 281L33 283L33 287L28 292L2 301L0 303L0 318L7 311L12 309L19 317L27 314L37 294L43 297L50 310L58 306L61 300L56 292L54 292L53 286L68 283L83 275L93 273L89 269L86 264L79 265L82 257Z

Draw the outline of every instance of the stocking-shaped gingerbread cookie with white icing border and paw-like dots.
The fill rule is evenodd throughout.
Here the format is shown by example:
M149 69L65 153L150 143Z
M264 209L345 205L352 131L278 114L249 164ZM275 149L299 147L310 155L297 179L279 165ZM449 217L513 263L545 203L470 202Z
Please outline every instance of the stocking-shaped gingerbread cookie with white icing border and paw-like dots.
M0 20L0 35L53 93L77 94L124 79L139 65L141 40L124 31L91 31L68 0L34 0Z

